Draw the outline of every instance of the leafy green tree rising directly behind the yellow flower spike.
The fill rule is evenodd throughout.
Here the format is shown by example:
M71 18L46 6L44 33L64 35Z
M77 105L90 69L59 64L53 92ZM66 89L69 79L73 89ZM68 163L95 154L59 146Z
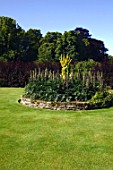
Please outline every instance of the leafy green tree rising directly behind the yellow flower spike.
M82 28L76 28L75 30L65 31L61 37L61 40L57 46L57 53L66 56L68 54L72 59L81 61L87 60L87 46L89 31Z

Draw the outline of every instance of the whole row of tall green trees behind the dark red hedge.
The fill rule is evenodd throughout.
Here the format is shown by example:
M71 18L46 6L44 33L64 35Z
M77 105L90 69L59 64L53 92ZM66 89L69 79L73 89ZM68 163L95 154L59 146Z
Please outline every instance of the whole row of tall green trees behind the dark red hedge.
M61 54L68 54L74 61L101 62L108 58L107 51L103 41L92 38L89 30L81 27L42 36L40 29L25 31L16 20L0 17L0 60L3 61L57 61Z

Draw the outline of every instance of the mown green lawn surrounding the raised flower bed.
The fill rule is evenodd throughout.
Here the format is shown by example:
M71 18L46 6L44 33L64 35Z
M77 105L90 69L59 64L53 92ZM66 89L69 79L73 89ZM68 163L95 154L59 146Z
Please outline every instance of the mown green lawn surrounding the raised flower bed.
M50 111L0 88L0 170L113 170L113 107Z

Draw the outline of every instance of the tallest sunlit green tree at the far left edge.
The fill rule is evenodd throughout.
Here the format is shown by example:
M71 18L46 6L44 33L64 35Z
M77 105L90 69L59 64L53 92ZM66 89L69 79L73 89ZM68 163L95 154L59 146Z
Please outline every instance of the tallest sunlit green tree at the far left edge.
M0 59L7 61L16 59L20 32L24 31L14 19L0 17Z

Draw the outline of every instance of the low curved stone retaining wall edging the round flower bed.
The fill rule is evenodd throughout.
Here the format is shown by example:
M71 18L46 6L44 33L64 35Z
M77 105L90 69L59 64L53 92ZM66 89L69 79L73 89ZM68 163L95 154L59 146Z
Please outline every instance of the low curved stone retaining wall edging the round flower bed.
M30 107L51 110L88 110L92 108L89 102L48 102L24 97L21 97L19 102Z

